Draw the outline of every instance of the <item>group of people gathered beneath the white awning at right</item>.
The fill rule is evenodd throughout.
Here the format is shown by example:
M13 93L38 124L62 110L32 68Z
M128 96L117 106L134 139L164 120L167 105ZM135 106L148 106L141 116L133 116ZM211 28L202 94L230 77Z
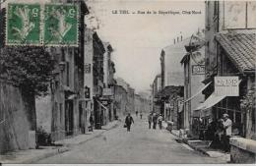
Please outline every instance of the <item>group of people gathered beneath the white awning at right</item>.
M229 151L229 138L232 134L232 121L227 114L218 122L212 121L208 125L206 132L206 139L213 140L211 146L216 148L223 148L224 151Z

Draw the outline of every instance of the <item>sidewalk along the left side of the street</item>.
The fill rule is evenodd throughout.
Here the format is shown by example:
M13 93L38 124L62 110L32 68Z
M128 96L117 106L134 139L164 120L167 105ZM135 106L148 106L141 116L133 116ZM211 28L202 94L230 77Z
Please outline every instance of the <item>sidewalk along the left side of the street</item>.
M101 130L94 130L94 132L79 135L74 138L67 138L59 141L55 141L55 144L62 144L62 146L40 146L39 149L28 149L28 150L18 150L5 153L0 155L0 163L4 164L28 164L35 163L38 160L54 156L56 154L64 153L72 149L73 146L85 143L93 138L98 137L102 133L116 128L120 124L119 121L113 121L103 126Z

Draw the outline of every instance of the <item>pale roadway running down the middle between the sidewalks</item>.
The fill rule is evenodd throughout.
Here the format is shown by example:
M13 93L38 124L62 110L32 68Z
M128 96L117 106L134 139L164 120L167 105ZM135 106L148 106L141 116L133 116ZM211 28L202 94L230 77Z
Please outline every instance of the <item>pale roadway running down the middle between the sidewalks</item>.
M119 125L71 151L37 163L224 163L176 142L166 130L149 130L146 118L134 119L130 133Z

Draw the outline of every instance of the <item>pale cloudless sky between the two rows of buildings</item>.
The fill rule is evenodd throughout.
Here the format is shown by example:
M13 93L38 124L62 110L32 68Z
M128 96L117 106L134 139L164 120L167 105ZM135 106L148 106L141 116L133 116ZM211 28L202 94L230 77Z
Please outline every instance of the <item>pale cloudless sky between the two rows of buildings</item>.
M123 78L136 91L150 89L160 74L163 47L173 44L177 36L189 37L205 26L203 1L88 0L86 3L90 9L86 24L96 28L101 40L110 42L114 49L115 77ZM114 14L115 10L118 14ZM119 10L128 10L129 14L120 14ZM169 14L162 15L159 11ZM201 14L189 15L191 11ZM176 12L180 15L173 14Z

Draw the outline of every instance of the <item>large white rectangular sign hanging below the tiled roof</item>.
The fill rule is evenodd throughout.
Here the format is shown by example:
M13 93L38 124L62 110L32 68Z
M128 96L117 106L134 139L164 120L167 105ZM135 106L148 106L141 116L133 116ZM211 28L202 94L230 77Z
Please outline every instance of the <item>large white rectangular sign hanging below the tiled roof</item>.
M219 96L239 96L238 77L215 77L215 94Z

